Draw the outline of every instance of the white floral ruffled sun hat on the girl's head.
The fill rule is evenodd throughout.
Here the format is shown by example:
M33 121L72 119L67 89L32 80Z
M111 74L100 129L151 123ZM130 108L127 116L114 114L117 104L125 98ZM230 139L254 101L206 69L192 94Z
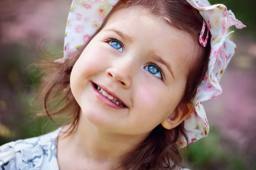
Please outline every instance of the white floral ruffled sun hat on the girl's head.
M207 136L209 124L202 102L213 99L222 93L219 81L236 51L236 45L228 39L228 35L233 31L228 33L227 29L230 26L236 26L239 29L245 27L243 23L236 19L233 12L228 11L223 4L211 5L208 0L186 1L196 8L204 18L201 36L198 40L201 45L205 46L210 32L211 52L208 71L192 101L195 109L184 120L189 143L184 138L180 139L178 143L180 148ZM64 58L58 59L56 62L64 62L81 48L90 36L99 29L103 20L117 2L118 0L73 0L65 32ZM206 26L208 32L204 40L203 34Z

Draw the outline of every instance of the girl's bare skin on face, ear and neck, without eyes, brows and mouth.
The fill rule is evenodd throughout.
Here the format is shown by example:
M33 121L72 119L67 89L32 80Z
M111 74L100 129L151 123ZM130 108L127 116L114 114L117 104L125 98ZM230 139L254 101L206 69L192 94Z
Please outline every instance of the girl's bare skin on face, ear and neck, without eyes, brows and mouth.
M122 43L121 50L111 46L111 38ZM111 169L157 125L172 129L183 122L192 105L187 104L186 111L175 108L184 94L187 65L195 60L193 45L187 34L140 8L111 16L73 67L70 87L81 118L76 131L58 141L60 169ZM174 77L156 56L171 66ZM154 63L162 79L147 70ZM114 92L127 108L112 108L99 100L92 82Z

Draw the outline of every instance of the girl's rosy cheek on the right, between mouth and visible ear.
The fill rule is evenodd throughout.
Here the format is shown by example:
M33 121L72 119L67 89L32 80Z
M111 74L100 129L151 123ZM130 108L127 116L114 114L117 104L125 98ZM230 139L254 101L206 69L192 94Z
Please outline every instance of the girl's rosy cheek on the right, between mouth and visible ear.
M143 86L136 88L134 93L133 108L134 111L136 110L134 119L140 124L154 128L174 112L184 90L183 85L180 84L167 87L161 84L162 82L148 84L148 81L149 79L143 83Z

